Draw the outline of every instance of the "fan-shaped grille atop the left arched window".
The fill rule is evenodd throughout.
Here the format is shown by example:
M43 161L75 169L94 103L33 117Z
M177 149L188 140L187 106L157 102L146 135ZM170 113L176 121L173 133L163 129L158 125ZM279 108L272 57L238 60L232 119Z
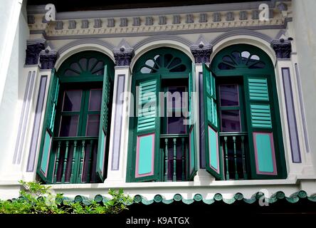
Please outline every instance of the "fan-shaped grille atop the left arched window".
M71 63L65 70L65 76L102 76L105 63L97 58L80 58L78 62Z

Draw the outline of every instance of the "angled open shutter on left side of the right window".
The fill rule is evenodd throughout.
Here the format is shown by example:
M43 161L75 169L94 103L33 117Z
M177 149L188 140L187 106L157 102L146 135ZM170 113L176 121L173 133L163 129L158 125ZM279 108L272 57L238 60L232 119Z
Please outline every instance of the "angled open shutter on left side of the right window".
M218 115L215 76L203 64L204 132L206 170L219 180L223 179L223 155L218 146Z

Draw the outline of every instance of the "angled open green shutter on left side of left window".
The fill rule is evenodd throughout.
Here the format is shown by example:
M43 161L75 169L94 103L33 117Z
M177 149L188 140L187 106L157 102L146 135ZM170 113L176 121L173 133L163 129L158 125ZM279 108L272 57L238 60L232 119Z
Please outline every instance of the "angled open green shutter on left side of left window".
M46 183L52 182L53 173L49 170L49 163L52 160L52 142L53 142L53 128L56 115L58 92L60 81L56 74L55 68L51 71L51 82L48 89L48 96L46 101L46 113L43 123L43 133L41 138L40 154L38 157L37 173L41 179Z

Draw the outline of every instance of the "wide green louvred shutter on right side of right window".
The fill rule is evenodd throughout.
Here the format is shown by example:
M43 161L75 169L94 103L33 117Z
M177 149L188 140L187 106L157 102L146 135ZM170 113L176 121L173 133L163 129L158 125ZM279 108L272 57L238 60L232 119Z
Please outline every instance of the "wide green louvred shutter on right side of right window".
M270 80L268 76L245 76L244 81L252 179L275 179L284 174L277 167L284 160L284 152L279 143L280 114L274 100L278 98L273 95L275 88Z

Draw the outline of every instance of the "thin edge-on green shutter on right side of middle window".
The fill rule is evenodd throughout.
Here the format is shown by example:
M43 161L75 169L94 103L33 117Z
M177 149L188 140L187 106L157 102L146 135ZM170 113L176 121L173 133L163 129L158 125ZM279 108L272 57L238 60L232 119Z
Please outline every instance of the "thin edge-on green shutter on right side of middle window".
M189 73L189 180L193 180L196 174L196 109L194 108L195 71L194 63Z

